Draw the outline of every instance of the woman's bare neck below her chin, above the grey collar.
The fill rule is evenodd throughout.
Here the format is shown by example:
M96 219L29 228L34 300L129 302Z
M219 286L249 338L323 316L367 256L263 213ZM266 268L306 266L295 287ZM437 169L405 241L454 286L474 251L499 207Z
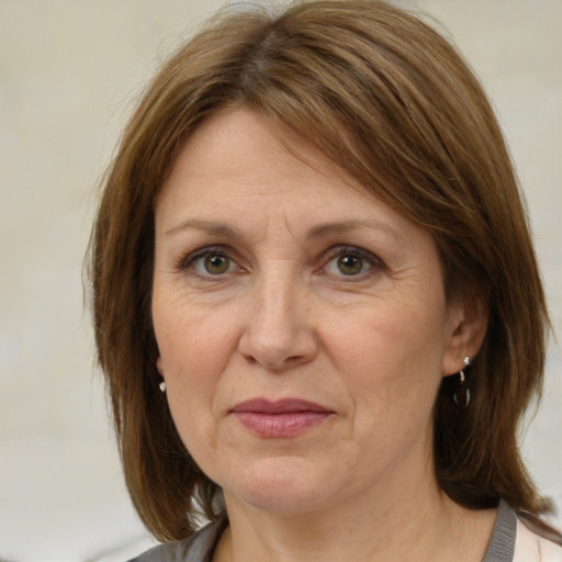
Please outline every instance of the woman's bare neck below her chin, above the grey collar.
M450 501L430 468L417 479L394 474L380 488L306 513L257 509L227 493L225 501L231 525L215 562L436 562L459 552L480 561L495 520L495 510L470 512Z

